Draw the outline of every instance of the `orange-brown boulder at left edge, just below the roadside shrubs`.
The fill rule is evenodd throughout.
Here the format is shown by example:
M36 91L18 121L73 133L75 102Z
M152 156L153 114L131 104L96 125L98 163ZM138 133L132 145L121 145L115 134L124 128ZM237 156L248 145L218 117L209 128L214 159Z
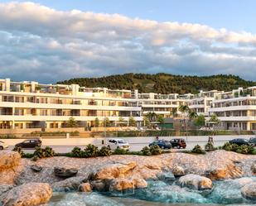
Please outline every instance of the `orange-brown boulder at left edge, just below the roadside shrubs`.
M17 151L0 151L0 156L0 171L16 167L22 159Z

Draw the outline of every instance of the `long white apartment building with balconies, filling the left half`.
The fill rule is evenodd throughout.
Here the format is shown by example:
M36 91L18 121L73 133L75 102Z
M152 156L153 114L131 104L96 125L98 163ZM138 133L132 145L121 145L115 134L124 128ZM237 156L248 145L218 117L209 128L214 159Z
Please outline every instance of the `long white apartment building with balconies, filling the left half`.
M138 91L83 88L76 84L38 84L0 79L0 128L59 128L75 117L80 127L109 118L142 121Z

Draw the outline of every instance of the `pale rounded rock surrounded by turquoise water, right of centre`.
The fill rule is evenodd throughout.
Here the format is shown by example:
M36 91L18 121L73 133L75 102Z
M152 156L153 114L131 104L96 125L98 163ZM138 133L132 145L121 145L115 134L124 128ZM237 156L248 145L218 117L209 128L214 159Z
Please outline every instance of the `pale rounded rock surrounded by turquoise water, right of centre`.
M192 189L212 189L212 181L200 175L185 175L178 180L181 187L188 187Z

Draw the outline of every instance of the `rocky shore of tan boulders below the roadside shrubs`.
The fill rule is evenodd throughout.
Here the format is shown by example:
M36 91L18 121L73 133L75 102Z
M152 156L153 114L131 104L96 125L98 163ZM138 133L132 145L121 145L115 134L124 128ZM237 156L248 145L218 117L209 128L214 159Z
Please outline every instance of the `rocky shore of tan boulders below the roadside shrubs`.
M56 175L56 168L63 169L65 176ZM94 195L133 191L136 198L152 201L156 196L160 202L167 198L175 202L176 194L180 200L187 195L186 198L207 203L214 197L225 204L225 185L233 185L239 199L255 203L255 175L256 156L221 150L205 155L170 153L87 159L56 156L36 162L21 159L17 152L0 151L0 201L5 206L30 206L47 204L53 194L60 192Z

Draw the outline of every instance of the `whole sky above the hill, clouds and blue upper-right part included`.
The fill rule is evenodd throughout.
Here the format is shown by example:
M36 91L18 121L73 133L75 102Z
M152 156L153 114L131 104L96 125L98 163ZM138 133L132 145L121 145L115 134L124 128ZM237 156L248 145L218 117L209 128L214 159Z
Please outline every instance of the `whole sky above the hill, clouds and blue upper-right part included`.
M0 0L0 78L165 72L256 80L254 0Z

